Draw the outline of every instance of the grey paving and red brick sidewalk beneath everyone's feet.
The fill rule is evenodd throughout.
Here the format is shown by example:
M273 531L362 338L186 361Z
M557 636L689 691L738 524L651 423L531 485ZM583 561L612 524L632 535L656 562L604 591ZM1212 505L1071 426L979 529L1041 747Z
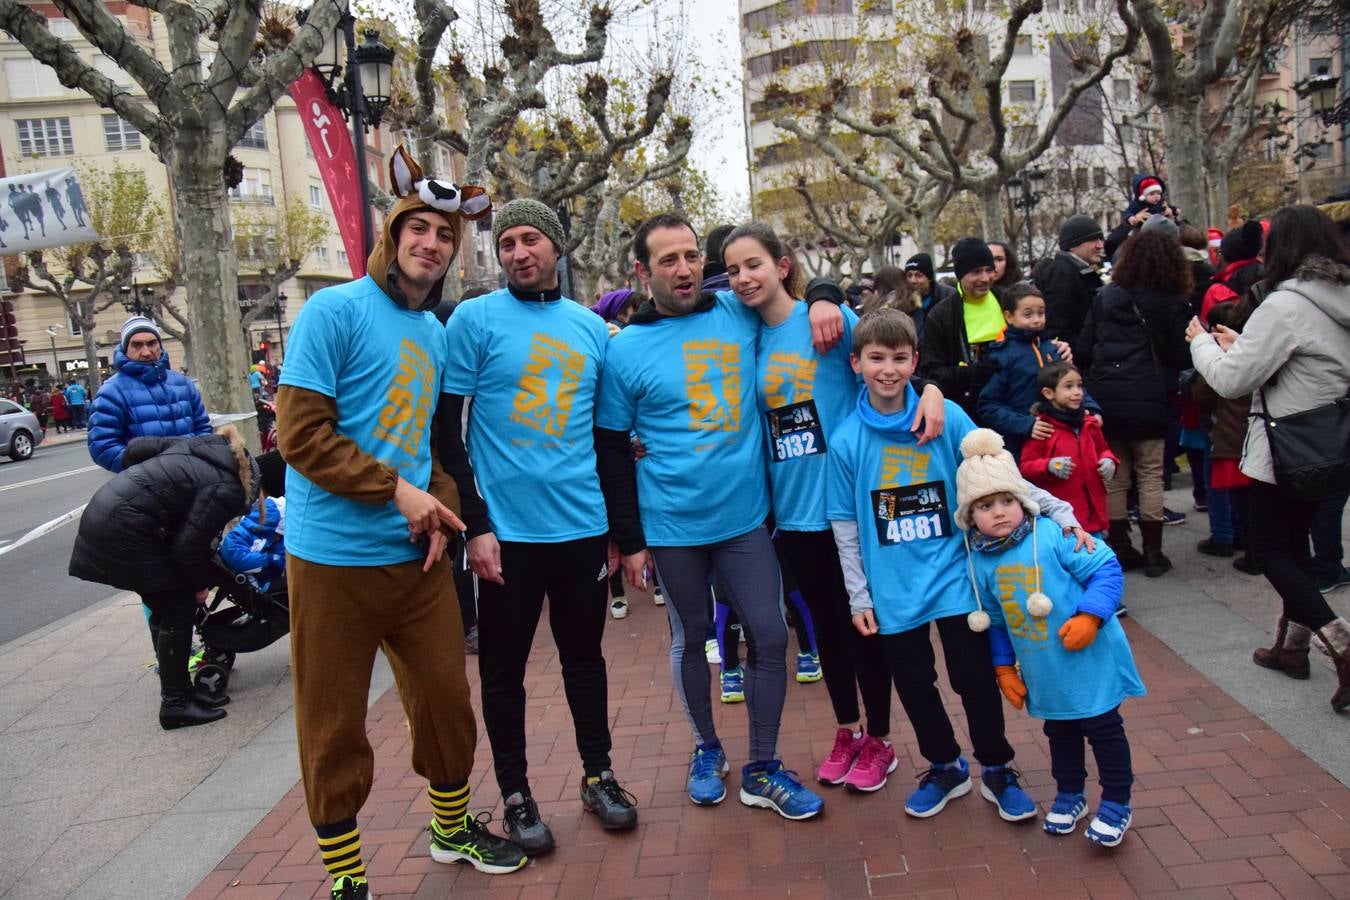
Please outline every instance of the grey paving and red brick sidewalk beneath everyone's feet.
M1174 509L1183 494L1169 497ZM362 814L379 897L554 896L1350 896L1350 723L1311 681L1253 667L1277 600L1262 579L1199 557L1204 517L1166 532L1177 571L1129 578L1126 629L1149 696L1125 707L1135 761L1134 831L1114 853L998 819L979 792L940 816L900 807L923 765L895 704L900 768L868 796L829 789L819 820L786 822L728 800L683 795L688 727L670 685L664 611L630 598L609 623L614 768L640 826L605 834L576 799L580 770L547 629L529 694L531 776L559 849L512 876L441 866L427 851L425 785L409 765L386 668L369 719L375 785ZM1199 521L1197 521L1199 519ZM1350 591L1332 595L1345 613ZM1160 640L1161 638L1161 640ZM0 646L0 870L4 897L324 897L327 878L298 788L285 642L239 660L231 715L161 731L148 638L120 596ZM477 683L477 668L470 665ZM961 734L954 696L944 692ZM477 702L477 688L474 691ZM718 727L744 761L744 707ZM788 687L780 754L810 777L829 749L822 684ZM1008 710L1017 765L1033 796L1054 793L1040 723ZM500 801L479 737L473 808ZM500 822L494 823L500 828Z

